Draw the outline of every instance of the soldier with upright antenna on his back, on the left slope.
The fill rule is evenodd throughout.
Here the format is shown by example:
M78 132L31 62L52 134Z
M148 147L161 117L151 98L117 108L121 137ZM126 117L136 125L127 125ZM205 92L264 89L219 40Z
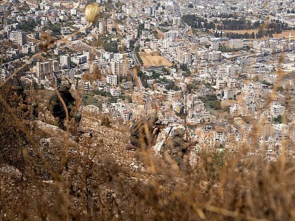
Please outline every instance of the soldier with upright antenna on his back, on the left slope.
M69 89L70 83L68 81L61 81L57 88L62 100L67 107L69 117L75 118L76 123L79 123L82 116L80 112L74 110L75 98L72 96ZM56 93L50 98L47 109L56 119L58 119L59 128L65 131L66 127L64 125L64 119L66 117L66 113Z

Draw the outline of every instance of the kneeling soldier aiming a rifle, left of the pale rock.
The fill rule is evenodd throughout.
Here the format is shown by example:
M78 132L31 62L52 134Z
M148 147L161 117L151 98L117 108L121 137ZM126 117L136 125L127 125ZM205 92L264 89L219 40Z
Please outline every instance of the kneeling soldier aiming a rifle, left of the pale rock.
M157 121L158 117L155 114L151 114L148 120L137 120L130 128L130 141L133 146L129 144L126 149L148 148L149 145L154 145L158 130L155 128Z

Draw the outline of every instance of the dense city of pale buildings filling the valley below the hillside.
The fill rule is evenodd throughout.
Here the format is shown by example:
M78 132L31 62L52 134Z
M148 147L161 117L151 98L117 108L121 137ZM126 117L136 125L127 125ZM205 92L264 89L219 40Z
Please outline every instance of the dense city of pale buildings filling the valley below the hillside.
M1 1L0 83L25 64L25 89L54 90L66 78L114 122L156 113L200 146L247 143L272 160L288 142L293 156L294 1L96 2L90 24L90 1Z

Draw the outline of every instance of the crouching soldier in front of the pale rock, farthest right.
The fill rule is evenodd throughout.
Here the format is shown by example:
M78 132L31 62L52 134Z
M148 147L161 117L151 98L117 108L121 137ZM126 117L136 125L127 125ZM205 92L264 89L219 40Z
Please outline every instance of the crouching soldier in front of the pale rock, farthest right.
M189 146L196 145L197 141L186 143L183 139L184 130L177 128L174 130L173 137L168 138L166 143L161 147L160 153L169 161L169 158L177 162L180 171L187 172L187 166L183 161L184 153Z

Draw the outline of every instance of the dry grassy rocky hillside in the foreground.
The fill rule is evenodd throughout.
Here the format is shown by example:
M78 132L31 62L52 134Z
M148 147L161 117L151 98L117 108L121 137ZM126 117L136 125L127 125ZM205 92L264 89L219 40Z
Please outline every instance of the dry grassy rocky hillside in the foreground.
M125 150L128 127L102 126L93 107L59 130L41 97L38 121L0 101L0 220L295 219L293 159L201 151L183 176L153 149Z

